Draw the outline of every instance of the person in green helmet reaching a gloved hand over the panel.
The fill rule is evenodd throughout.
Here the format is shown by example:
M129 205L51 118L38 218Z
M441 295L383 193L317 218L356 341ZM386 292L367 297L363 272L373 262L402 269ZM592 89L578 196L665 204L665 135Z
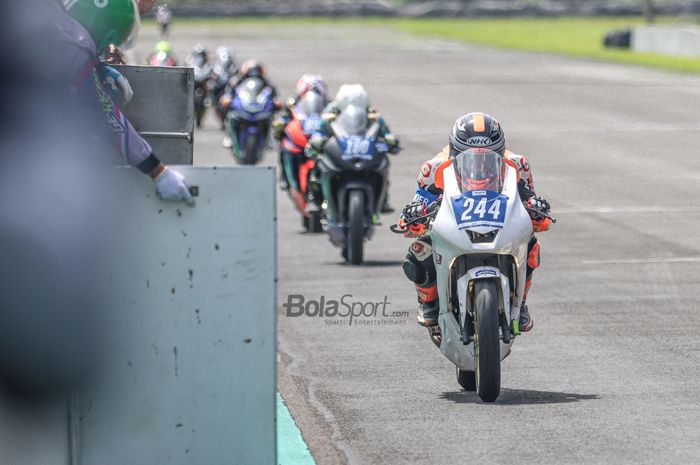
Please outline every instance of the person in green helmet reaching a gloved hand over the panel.
M126 119L102 82L99 52L110 44L133 41L138 33L139 11L134 0L112 0L103 7L92 0L57 1L54 23L59 40L66 45L66 75L74 76L70 87L82 103L95 113L94 136L112 147L131 166L149 175L163 200L183 201L194 206L184 176L167 168ZM107 73L109 74L109 73ZM115 78L115 76L112 76ZM118 76L116 79L119 80Z

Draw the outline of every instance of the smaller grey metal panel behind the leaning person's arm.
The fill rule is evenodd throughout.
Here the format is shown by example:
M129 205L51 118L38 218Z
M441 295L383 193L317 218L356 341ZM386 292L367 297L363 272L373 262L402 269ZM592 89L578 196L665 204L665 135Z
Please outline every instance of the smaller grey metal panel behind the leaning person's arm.
M194 132L194 71L179 66L116 66L129 79L134 98L123 106L131 124L164 163L191 165ZM155 137L144 133L170 134Z

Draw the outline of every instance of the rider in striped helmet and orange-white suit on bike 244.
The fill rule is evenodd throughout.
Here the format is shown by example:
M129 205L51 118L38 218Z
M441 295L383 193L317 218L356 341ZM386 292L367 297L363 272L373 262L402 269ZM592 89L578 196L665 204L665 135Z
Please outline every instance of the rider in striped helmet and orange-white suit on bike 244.
M527 158L506 148L505 134L498 121L485 113L469 113L457 119L450 134L449 145L421 166L415 198L403 209L399 220L401 226L413 223L408 226L406 236L415 237L416 240L409 247L403 270L406 277L415 284L418 293L418 323L427 327L438 324L440 311L432 242L428 235L430 214L436 212L442 202L443 171L452 167L455 156L469 149L488 149L503 156L508 165L518 170L518 193L530 214L534 231L547 231L551 225L548 218L549 202L535 194ZM475 159L475 163L478 163L478 159ZM488 166L474 166L470 169L474 178L488 178L481 176ZM478 184L480 179L472 181ZM487 189L488 186L479 188ZM531 330L533 325L525 301L532 285L532 274L539 264L540 244L533 234L528 244L525 296L520 310L519 326L523 332Z

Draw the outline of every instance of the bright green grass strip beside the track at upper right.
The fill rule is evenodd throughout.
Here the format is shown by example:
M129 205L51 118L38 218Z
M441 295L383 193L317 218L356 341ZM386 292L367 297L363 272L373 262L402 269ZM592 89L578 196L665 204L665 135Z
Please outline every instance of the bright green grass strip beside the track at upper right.
M415 34L498 48L550 52L700 73L700 59L603 47L603 37L607 32L642 24L642 20L636 18L398 19L389 24Z

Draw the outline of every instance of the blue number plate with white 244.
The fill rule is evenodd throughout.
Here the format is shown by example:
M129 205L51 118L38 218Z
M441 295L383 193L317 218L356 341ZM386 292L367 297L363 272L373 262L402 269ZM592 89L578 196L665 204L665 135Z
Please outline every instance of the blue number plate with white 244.
M508 208L505 195L494 191L468 191L450 200L459 229L503 228Z

